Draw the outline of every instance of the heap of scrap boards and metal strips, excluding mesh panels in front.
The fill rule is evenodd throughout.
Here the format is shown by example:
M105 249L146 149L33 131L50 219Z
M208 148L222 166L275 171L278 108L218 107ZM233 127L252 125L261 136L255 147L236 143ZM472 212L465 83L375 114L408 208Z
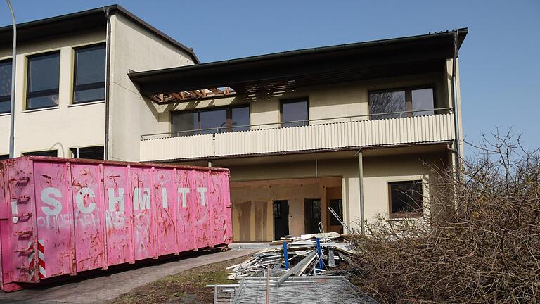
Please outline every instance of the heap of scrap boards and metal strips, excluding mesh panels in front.
M343 274L352 263L354 250L349 242L335 232L285 236L271 247L252 255L249 260L228 269L228 279L244 277L280 277Z

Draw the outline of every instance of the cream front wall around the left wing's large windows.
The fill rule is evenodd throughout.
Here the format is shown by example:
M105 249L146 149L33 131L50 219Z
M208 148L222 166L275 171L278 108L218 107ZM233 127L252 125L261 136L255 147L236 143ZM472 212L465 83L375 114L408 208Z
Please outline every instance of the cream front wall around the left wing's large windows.
M69 156L69 149L100 146L104 141L103 101L72 105L73 48L105 42L105 30L80 32L44 41L24 43L17 48L15 75L15 156L41 150L58 150ZM25 110L26 56L60 51L58 107ZM0 60L11 58L11 48L0 49ZM0 154L9 153L11 115L0 115Z

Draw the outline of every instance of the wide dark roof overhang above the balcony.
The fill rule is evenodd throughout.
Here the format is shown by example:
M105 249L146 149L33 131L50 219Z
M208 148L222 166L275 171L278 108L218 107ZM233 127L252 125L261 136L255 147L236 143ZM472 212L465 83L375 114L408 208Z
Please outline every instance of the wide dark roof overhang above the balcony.
M468 30L457 30L458 47ZM141 94L156 96L205 88L232 87L238 94L290 86L442 70L454 56L454 31L285 51L178 68L130 72Z

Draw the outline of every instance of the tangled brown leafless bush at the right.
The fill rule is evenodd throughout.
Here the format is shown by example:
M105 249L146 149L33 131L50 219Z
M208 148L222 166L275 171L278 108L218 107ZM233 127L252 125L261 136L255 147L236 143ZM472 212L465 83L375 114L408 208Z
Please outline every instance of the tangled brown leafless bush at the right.
M367 224L355 283L383 303L539 303L540 153L514 140L438 170L425 221Z

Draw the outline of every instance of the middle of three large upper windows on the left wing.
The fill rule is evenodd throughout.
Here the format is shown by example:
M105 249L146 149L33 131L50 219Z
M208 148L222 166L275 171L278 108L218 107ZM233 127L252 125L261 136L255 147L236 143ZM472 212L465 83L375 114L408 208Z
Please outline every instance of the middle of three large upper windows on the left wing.
M60 53L28 57L27 110L58 106Z

